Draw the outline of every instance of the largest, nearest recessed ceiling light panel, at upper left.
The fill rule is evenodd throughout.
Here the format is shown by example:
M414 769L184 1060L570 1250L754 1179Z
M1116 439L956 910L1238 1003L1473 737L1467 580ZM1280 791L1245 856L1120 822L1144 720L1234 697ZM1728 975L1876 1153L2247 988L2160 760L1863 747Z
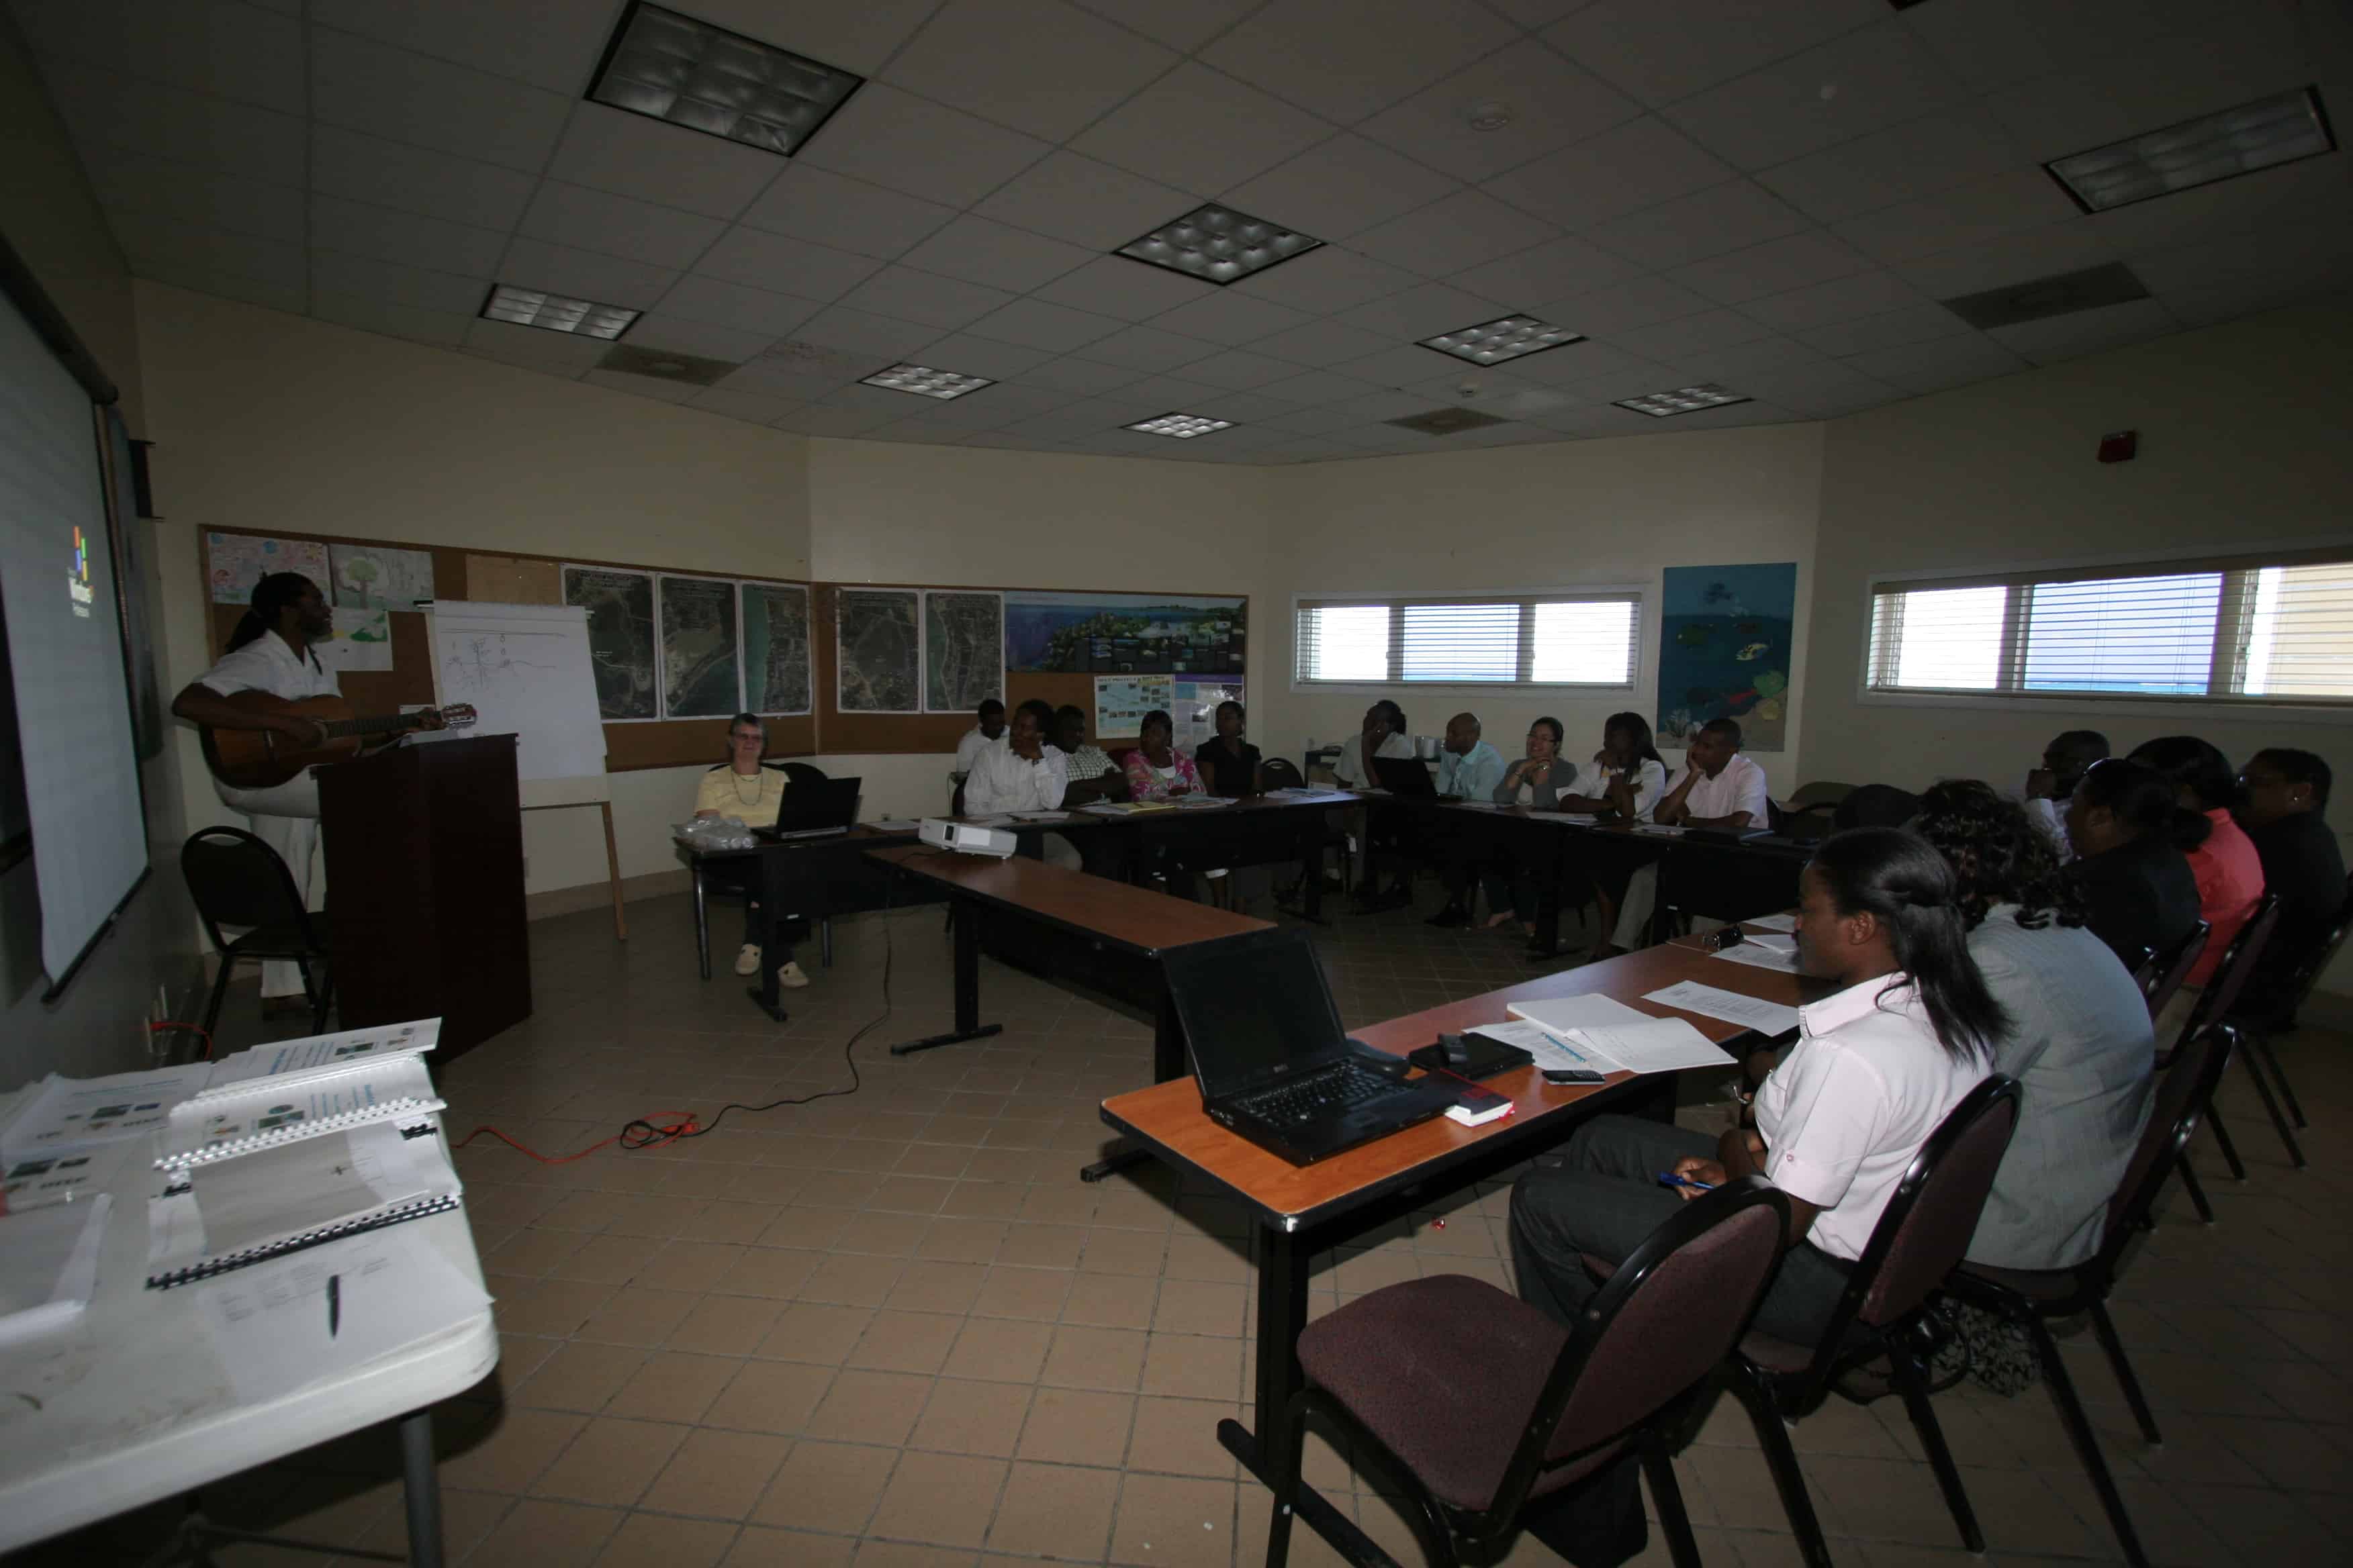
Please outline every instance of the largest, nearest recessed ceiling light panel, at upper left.
M864 80L638 0L605 45L588 96L791 158Z

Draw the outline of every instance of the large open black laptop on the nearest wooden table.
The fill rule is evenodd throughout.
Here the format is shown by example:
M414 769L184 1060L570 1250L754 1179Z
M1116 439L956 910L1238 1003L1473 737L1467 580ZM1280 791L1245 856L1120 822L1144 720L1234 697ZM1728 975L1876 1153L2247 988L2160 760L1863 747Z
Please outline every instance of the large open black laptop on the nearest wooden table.
M1160 957L1200 1110L1294 1166L1454 1105L1461 1084L1348 1039L1306 931L1252 931Z

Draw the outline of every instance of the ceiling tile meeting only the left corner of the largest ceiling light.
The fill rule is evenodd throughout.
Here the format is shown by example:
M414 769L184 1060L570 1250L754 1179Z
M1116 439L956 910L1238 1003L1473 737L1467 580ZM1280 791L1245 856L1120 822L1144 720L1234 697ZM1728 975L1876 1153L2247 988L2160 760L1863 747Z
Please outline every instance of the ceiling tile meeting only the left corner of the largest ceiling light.
M329 125L539 174L569 113L569 96L311 28L311 115Z

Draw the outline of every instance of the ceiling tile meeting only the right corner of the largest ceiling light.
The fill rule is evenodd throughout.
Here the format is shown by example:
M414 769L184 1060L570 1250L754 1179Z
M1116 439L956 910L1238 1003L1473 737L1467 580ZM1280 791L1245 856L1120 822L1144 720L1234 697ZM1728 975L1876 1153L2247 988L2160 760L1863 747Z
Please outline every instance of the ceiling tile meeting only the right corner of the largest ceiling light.
M984 120L1064 141L1176 59L1061 0L948 0L882 78Z

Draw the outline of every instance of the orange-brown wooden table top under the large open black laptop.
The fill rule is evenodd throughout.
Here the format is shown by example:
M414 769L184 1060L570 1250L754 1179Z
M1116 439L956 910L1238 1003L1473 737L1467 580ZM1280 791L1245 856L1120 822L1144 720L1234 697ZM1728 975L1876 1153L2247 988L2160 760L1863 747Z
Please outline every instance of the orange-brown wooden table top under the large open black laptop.
M1584 969L1567 969L1555 976L1506 985L1504 990L1485 992L1466 1001L1449 1001L1447 1006L1433 1006L1421 1013L1391 1018L1367 1030L1358 1030L1355 1039L1362 1039L1377 1051L1405 1056L1407 1051L1431 1044L1440 1032L1454 1034L1482 1023L1501 1023L1513 1001L1586 997L1593 992L1614 997L1626 1006L1659 1018L1687 1018L1713 1041L1725 1041L1746 1032L1741 1025L1725 1023L1720 1018L1701 1018L1699 1013L1685 1013L1680 1009L1659 1006L1657 1001L1642 1001L1645 992L1673 985L1675 980L1699 980L1701 985L1762 997L1784 1006L1798 1006L1828 992L1828 987L1819 980L1802 980L1798 976L1784 976L1751 964L1718 961L1697 940L1682 938L1659 947L1645 947L1640 952L1602 959L1600 964L1586 964ZM1388 1138L1377 1138L1374 1143L1348 1150L1346 1154L1334 1154L1332 1159L1313 1166L1294 1166L1280 1154L1271 1154L1249 1143L1240 1133L1231 1133L1209 1121L1200 1110L1200 1088L1191 1079L1174 1079L1169 1084L1155 1084L1153 1088L1113 1095L1111 1100L1104 1100L1104 1121L1144 1138L1162 1157L1221 1182L1242 1201L1261 1208L1266 1218L1275 1220L1285 1229L1297 1229L1329 1218L1353 1204L1379 1197L1419 1166L1445 1159L1489 1138L1513 1133L1525 1138L1525 1128L1532 1124L1591 1095L1609 1093L1619 1084L1628 1084L1633 1077L1635 1074L1631 1072L1619 1072L1612 1074L1607 1086L1565 1086L1546 1084L1534 1067L1520 1067L1518 1072L1482 1079L1487 1088L1499 1095L1511 1095L1515 1105L1513 1114L1499 1121L1487 1121L1485 1126L1461 1126L1449 1117L1435 1117L1391 1133Z

